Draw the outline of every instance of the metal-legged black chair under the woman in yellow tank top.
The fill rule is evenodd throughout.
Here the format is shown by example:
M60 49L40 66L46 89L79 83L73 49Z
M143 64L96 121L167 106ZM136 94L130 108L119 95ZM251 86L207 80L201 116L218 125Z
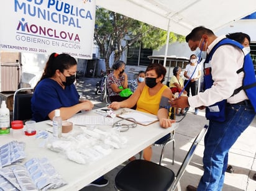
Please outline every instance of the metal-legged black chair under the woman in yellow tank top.
M171 108L171 115L170 115L171 119L175 120L175 108ZM173 161L172 164L174 164L174 158L175 158L175 130L171 131L171 133L168 133L167 135L163 136L162 138L160 138L160 140L155 141L155 143L153 143L154 146L162 146L162 151L161 151L161 155L160 155L160 160L159 160L159 164L162 164L163 161L163 153L165 152L165 146L167 146L167 144L169 143L173 143Z

